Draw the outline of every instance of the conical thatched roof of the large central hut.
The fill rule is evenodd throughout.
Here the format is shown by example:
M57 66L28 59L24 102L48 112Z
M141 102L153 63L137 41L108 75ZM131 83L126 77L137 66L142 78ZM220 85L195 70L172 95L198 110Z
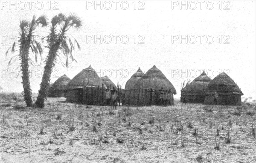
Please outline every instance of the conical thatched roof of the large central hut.
M176 94L176 89L172 83L166 78L166 76L157 69L154 65L149 69L138 82L135 84L134 88L152 88L152 89L171 89L173 94Z

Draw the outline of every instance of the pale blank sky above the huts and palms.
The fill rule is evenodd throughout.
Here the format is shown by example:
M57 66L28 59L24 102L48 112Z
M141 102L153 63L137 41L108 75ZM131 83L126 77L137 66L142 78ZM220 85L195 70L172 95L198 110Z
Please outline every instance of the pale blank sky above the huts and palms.
M15 3L16 2L16 3ZM20 20L46 15L75 13L81 17L79 30L67 31L81 50L73 53L77 62L69 68L60 61L51 83L63 74L71 79L92 66L100 77L125 83L140 67L157 66L174 85L180 98L180 84L194 80L204 69L210 78L226 72L244 93L256 99L256 1L1 1L0 86L3 92L22 92L19 60L8 67L17 54L6 51L19 35ZM116 9L115 9L116 7ZM102 8L102 9L101 9ZM38 27L41 40L49 27ZM45 43L45 42L44 42ZM43 44L44 44L43 43ZM16 46L16 49L18 47ZM37 93L47 49L36 66L30 66L32 92ZM31 53L32 59L35 59ZM16 69L16 70L15 70Z

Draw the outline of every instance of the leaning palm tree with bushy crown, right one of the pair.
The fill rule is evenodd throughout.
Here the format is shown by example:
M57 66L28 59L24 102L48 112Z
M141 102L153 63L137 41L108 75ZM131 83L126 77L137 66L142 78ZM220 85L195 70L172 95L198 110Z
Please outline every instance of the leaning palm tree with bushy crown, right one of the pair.
M68 67L69 59L74 61L72 55L73 49L77 45L80 49L79 43L75 39L74 44L70 37L67 35L67 31L70 28L80 29L82 26L81 18L75 14L66 16L64 14L58 14L52 18L50 33L47 37L46 46L49 49L49 53L46 58L46 65L44 66L44 74L42 82L40 84L40 90L38 91L38 97L35 102L35 107L43 108L44 100L47 97L47 86L50 82L52 69L57 62L57 57L61 60L61 57L65 58L65 63L61 61L61 64ZM76 60L75 60L76 61Z

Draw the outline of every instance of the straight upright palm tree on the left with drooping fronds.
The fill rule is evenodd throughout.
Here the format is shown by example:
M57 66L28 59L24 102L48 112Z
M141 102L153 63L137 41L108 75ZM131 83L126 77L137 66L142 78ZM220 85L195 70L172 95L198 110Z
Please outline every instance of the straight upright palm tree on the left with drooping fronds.
M43 49L41 48L40 43L33 40L35 29L42 25L42 27L47 26L47 18L45 16L38 17L36 19L35 15L32 18L32 21L29 22L27 20L20 21L20 39L19 43L19 54L15 55L11 58L8 65L11 65L18 58L20 59L20 66L22 71L22 84L23 84L23 94L24 100L27 106L33 106L32 100L32 90L30 89L29 82L29 61L32 63L31 58L29 57L29 50L35 54L35 61L37 62L38 53L42 54ZM10 47L11 48L11 47ZM6 51L6 55L8 54L10 48ZM15 42L12 45L12 53L15 52ZM12 62L13 59L13 62Z

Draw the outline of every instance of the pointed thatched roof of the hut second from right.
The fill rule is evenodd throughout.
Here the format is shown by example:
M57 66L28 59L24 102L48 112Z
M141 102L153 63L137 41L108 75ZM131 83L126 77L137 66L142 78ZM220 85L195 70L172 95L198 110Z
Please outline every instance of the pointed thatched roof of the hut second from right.
M181 92L202 92L207 89L209 82L212 79L207 76L207 74L203 71L203 73L195 78L191 83L187 84Z

